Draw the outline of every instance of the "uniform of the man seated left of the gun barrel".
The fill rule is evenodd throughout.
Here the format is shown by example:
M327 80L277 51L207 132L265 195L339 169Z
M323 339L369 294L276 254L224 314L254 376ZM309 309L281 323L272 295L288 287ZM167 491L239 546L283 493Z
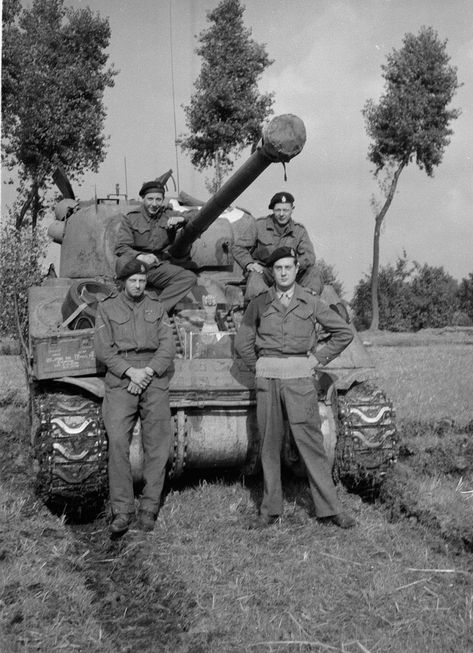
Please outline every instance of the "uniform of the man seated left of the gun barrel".
M174 215L183 217L182 213L166 207L162 207L156 217L150 217L143 205L127 211L122 215L115 246L115 254L128 259L136 258L138 254L158 257L159 263L148 271L148 286L153 286L158 292L165 311L174 308L197 282L191 270L173 265L160 256L173 241L175 232L166 225L168 218Z

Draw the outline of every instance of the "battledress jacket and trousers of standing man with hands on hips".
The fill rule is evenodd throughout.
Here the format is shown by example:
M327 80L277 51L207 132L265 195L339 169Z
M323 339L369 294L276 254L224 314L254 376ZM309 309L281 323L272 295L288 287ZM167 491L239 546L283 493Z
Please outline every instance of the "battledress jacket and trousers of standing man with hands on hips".
M316 322L331 334L326 344L317 351ZM302 370L305 366L307 370L308 351L315 355L321 365L325 365L340 354L352 339L350 327L337 313L319 297L296 284L287 308L278 299L274 287L250 302L237 333L235 347L252 370L255 370L257 359L261 357L294 357L294 369L300 367ZM341 512L324 449L314 377L304 371L301 371L300 376L296 374L291 378L265 378L257 375L256 400L264 474L261 515L273 517L281 515L283 511L283 409L307 468L317 517L328 517Z

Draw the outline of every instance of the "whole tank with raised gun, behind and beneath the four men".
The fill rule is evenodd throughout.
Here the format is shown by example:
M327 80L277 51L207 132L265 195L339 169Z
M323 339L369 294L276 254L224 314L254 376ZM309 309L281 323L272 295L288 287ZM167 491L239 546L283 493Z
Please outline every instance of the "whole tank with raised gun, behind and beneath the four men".
M244 309L244 277L231 256L232 242L254 218L227 209L269 165L296 156L305 137L296 116L274 118L249 159L194 208L167 252L198 275L198 285L171 317L178 353L170 385L170 479L199 470L258 471L254 378L233 346ZM49 232L61 244L59 276L45 277L29 293L31 444L40 496L74 508L100 504L108 492L104 370L95 359L93 327L98 301L114 287L114 245L129 203L119 195L78 202L61 175L56 181L64 198ZM195 204L181 195L173 206L184 211L189 203ZM323 297L334 310L343 308L332 287L325 286ZM353 331L351 345L318 375L325 446L334 477L350 486L379 483L397 453L393 406L377 388L373 362ZM323 332L319 338L323 341ZM139 420L130 458L139 482ZM304 473L289 429L283 459L292 471Z

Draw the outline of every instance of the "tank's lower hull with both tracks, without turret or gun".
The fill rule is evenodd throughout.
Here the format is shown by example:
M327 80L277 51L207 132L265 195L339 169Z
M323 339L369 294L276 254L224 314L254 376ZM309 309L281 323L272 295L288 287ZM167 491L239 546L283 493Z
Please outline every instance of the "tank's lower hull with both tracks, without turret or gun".
M222 278L214 275L212 284L218 285L217 280ZM209 282L205 283L208 287ZM104 370L95 360L93 329L61 327L60 308L68 288L68 280L56 280L31 290L36 395L32 443L41 494L53 502L82 504L88 503L94 492L97 497L107 493L103 462L107 439L100 412ZM338 300L330 288L324 295L328 302ZM170 380L173 438L168 475L177 478L209 469L253 474L259 469L260 449L254 375L234 357L235 324L228 317L226 323L220 319L227 330L206 334L201 330L201 313L198 307L184 309L174 318L179 357ZM192 316L193 322L189 321ZM375 374L371 358L354 332L352 344L318 379L326 452L334 477L351 487L360 481L379 483L396 461L394 409L383 393L367 385L374 382ZM75 414L74 407L81 401L88 409ZM304 474L288 428L283 460L293 472ZM139 422L130 461L135 480L141 480Z

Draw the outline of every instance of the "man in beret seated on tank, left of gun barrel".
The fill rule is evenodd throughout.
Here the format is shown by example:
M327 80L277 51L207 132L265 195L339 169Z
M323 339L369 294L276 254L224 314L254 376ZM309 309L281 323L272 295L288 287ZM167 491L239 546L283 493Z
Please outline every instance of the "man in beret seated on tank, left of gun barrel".
M163 250L174 240L176 229L187 218L165 202L165 188L159 181L147 181L140 190L142 204L122 216L115 254L126 261L137 258L148 266L148 285L158 293L169 312L196 284L191 270L163 258Z

